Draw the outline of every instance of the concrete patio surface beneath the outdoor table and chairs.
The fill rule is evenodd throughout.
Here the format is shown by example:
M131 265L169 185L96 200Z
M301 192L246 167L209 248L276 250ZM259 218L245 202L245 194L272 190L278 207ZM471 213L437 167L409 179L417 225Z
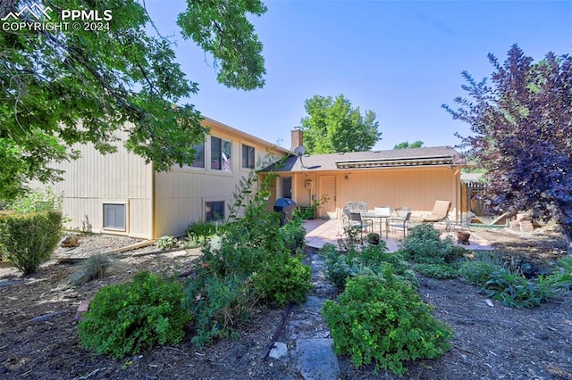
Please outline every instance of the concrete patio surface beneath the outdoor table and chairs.
M341 219L308 219L304 220L303 226L307 231L307 244L312 248L322 248L326 243L337 245L338 239L343 236ZM436 226L439 227L439 225ZM444 229L441 230L442 238L450 236L453 239L454 244L460 245L467 250L492 250L491 244L481 238L474 230L471 231L469 244L458 244L454 228L451 228L450 232L447 232ZM374 226L374 231L378 231L377 226ZM385 231L383 231L383 234L380 237L385 241L385 244L387 244L389 252L395 252L398 251L399 244L403 240L403 231L390 230L387 238L385 237Z

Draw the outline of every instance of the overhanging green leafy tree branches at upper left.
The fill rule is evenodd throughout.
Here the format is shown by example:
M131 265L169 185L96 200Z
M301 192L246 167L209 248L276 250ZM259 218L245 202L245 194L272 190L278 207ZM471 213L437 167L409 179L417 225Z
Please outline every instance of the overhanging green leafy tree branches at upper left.
M64 16L71 10L104 21L71 22ZM265 68L247 16L265 11L258 0L188 0L178 24L183 37L213 55L221 83L249 90L264 86ZM47 27L18 27L39 16ZM111 153L122 139L157 170L193 161L192 146L206 129L192 104L177 104L198 87L174 62L172 42L158 31L147 33L153 24L143 5L3 0L0 19L0 199L20 192L29 179L61 178L49 162L78 158L76 143ZM67 27L49 28L66 21Z

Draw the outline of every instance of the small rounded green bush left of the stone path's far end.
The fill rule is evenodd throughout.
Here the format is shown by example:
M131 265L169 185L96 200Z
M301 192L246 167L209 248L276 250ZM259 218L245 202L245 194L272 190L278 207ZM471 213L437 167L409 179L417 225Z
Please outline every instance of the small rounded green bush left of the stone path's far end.
M301 256L282 253L269 258L253 276L257 296L284 306L288 302L306 301L312 289L312 270L302 264Z

